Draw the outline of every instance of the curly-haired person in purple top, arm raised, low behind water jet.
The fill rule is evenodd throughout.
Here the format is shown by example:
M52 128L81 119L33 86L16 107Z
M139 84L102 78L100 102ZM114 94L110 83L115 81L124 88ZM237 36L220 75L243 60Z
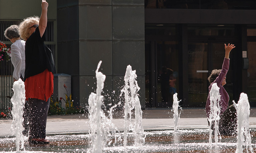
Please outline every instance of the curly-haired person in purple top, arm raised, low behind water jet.
M225 58L224 62L222 65L221 70L213 70L211 75L208 77L209 82L211 83L209 86L209 94L207 97L207 102L206 102L206 113L207 113L207 118L209 118L209 114L211 112L210 108L210 90L212 88L213 83L217 83L218 87L220 88L220 120L219 120L219 131L221 135L236 135L236 127L237 127L237 115L236 115L236 109L234 105L231 105L228 107L228 102L229 102L229 95L225 88L223 87L226 84L226 75L228 73L229 69L229 54L231 50L235 48L233 44L225 44ZM209 121L208 121L208 124ZM214 129L214 124L212 124L212 129Z

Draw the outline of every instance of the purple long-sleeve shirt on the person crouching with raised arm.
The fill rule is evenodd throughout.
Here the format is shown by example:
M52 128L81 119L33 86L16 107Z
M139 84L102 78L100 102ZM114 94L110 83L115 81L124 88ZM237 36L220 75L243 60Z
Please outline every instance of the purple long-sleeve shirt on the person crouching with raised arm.
M225 88L222 86L222 82L228 73L228 69L229 69L229 59L225 58L223 61L221 73L209 86L209 93L208 93L207 102L206 102L206 106L205 106L208 118L209 118L209 114L211 112L210 90L212 88L213 83L217 83L218 87L220 88L219 91L220 91L220 99L221 100L219 101L219 105L220 105L220 109L221 109L221 114L228 108L229 95L228 95L228 92L225 90Z

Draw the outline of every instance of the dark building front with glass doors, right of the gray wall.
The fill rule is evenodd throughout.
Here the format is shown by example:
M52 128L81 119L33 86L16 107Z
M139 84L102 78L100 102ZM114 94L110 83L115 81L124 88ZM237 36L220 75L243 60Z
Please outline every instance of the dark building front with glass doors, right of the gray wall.
M146 107L171 107L172 86L183 107L204 107L207 77L221 69L224 43L236 46L224 86L229 105L245 92L255 106L255 5L255 0L145 0L145 69L151 82Z

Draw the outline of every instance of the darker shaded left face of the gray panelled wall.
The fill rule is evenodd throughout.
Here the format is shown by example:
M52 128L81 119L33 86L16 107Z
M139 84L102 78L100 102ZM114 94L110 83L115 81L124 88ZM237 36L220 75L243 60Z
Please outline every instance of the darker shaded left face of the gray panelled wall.
M74 105L79 105L78 0L57 0L58 73L71 75Z

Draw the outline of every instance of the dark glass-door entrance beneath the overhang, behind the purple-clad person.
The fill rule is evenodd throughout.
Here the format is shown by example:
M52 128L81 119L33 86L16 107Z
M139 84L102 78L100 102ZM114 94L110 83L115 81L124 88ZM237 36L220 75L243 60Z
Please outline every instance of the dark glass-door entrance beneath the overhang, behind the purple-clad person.
M146 107L172 107L175 92L178 93L179 99L186 100L186 106L205 107L209 86L207 78L213 69L222 68L225 57L224 43L235 42L234 26L208 25L206 28L197 26L199 27L188 26L185 42L183 42L184 38L180 39L179 35L157 36L159 34L157 30L155 30L155 37L146 35ZM151 34L147 33L147 26L145 29L146 34ZM176 30L175 34L178 34L177 31L179 30ZM166 33L163 32L163 34ZM179 55L182 53L181 46L187 48L185 56ZM230 55L230 69L226 76L227 84L224 86L229 93L230 103L233 99L233 75L235 73L233 52L236 52L236 49ZM180 60L184 60L183 57L186 56L187 60L183 61L186 64L180 67ZM188 76L181 74L184 70L187 71ZM184 77L188 79L184 80ZM188 84L187 88L184 85L182 87L181 83ZM186 99L182 96L184 93L187 94Z

